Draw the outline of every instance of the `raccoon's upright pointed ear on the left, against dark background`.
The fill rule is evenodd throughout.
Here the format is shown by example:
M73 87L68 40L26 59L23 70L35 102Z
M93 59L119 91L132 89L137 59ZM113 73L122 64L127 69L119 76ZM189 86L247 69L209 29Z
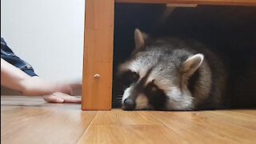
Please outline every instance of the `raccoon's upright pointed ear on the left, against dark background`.
M141 30L135 29L134 40L136 50L140 50L145 46L145 41L147 37L147 34L142 33Z

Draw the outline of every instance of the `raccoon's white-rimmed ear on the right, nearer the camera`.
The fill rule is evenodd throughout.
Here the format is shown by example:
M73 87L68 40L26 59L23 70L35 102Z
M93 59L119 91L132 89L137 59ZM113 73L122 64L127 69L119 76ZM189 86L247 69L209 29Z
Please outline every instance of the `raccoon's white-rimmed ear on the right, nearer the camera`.
M190 77L199 66L201 66L204 56L202 54L194 54L192 57L187 58L185 62L182 63L182 74Z

